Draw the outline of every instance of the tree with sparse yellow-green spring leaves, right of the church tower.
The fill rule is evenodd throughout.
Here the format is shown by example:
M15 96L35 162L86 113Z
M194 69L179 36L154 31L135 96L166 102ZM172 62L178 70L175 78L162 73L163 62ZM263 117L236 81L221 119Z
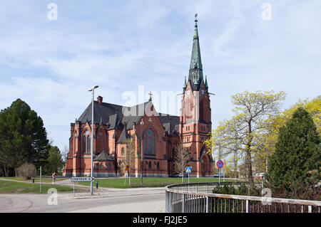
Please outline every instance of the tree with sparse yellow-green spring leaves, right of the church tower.
M252 159L258 152L260 134L267 128L265 120L277 114L284 99L285 93L282 91L245 91L232 95L235 116L220 122L210 134L210 139L204 142L209 152L223 149L223 157L237 152L235 160L243 158L251 186L254 185Z

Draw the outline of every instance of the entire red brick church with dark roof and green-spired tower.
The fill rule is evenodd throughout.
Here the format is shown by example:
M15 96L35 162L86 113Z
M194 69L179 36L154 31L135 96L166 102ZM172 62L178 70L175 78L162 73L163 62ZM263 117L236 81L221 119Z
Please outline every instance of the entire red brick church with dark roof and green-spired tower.
M175 146L182 142L190 151L190 176L213 176L213 159L206 153L203 140L212 128L210 93L203 77L198 25L195 20L193 50L188 80L184 82L180 117L156 112L152 99L133 107L94 101L93 176L122 176L126 159L126 139L134 138L137 154L131 174L141 176L141 144L143 176L171 176ZM130 110L130 115L126 113ZM135 113L135 114L132 114ZM143 122L143 125L141 124ZM69 153L63 169L65 176L90 176L91 172L91 103L81 117L71 123Z

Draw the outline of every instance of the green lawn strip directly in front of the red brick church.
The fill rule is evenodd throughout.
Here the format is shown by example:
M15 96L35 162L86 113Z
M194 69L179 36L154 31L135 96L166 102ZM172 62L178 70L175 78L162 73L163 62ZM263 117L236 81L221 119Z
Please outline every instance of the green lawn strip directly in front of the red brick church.
M98 181L98 187L106 188L118 188L118 189L127 189L128 178L111 178L111 179L95 179ZM220 179L221 182L224 182L224 179ZM225 181L235 181L234 179L225 179ZM200 183L200 182L218 182L218 178L190 178L190 183ZM83 185L90 185L90 182L78 182ZM94 186L96 185L95 182ZM143 178L143 187L163 187L170 184L181 184L181 178L171 178L171 177L144 177ZM188 183L188 178L184 178L184 183ZM131 177L131 187L141 187L141 178Z

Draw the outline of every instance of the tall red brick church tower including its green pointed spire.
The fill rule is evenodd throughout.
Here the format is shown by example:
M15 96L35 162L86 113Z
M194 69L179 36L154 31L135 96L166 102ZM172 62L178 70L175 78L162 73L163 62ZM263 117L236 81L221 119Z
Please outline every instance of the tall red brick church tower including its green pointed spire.
M190 70L188 80L185 78L183 85L180 109L180 139L190 151L191 176L213 175L213 159L206 153L207 149L203 144L210 137L208 133L211 129L210 93L207 78L204 80L203 76L196 14Z

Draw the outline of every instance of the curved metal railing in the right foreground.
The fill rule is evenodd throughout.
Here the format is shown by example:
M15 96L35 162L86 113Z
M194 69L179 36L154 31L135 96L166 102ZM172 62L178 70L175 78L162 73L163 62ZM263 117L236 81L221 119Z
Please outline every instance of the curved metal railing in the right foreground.
M235 184L235 182L221 182ZM238 186L240 183L236 183ZM165 187L168 213L320 213L321 201L213 194L218 182Z

